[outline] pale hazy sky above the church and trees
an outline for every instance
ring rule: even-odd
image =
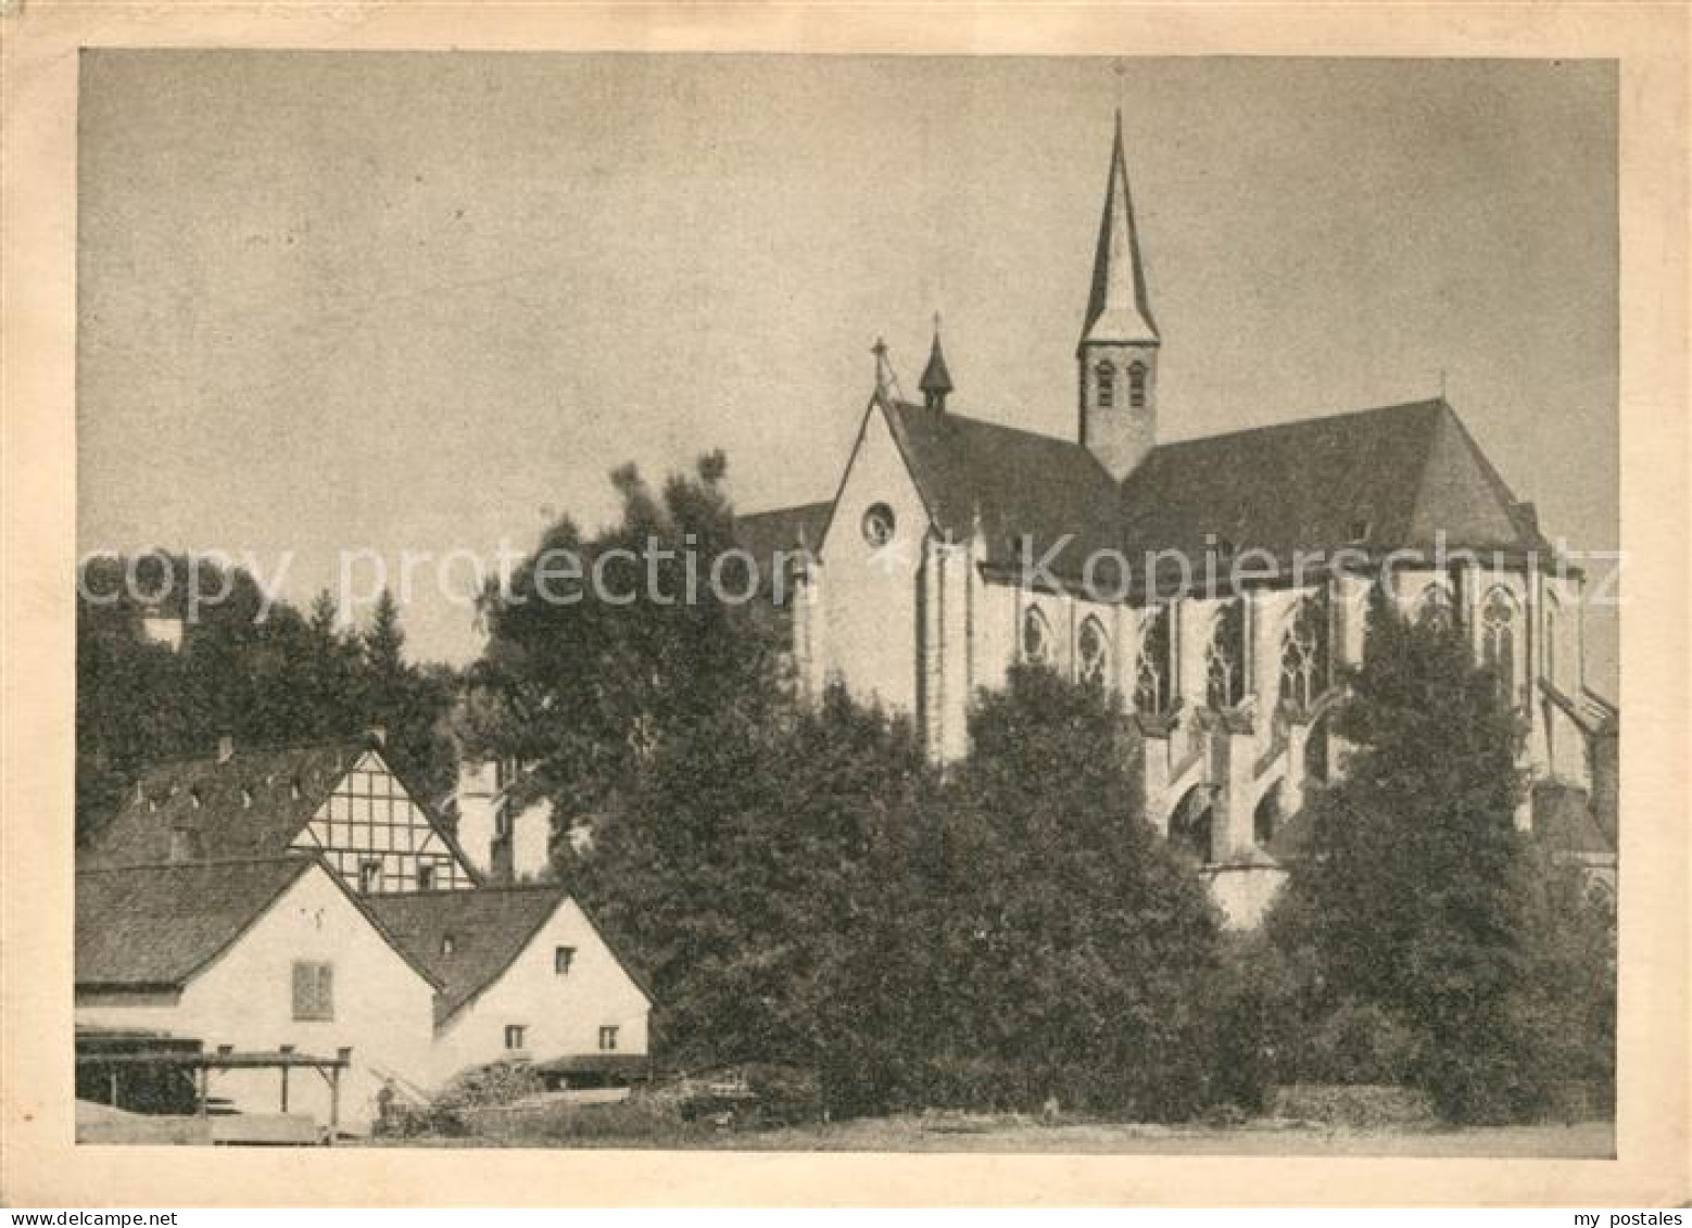
[[[954,411],[1071,435],[1118,107],[1162,438],[1443,387],[1618,546],[1612,63],[85,51],[81,548],[301,604],[413,551],[409,650],[467,661],[469,553],[629,460],[829,497],[936,311]]]

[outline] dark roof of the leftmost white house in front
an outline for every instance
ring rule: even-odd
[[[76,984],[186,984],[313,864],[289,856],[80,871]]]

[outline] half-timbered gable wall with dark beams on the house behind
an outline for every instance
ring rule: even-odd
[[[320,852],[362,895],[475,886],[459,849],[374,749],[335,781],[293,847]]]

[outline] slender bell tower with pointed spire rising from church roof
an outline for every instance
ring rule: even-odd
[[[1093,289],[1076,347],[1079,438],[1118,482],[1157,445],[1157,347],[1118,110]]]

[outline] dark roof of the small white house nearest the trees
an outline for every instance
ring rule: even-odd
[[[435,1022],[442,1023],[504,976],[569,898],[562,886],[486,886],[475,891],[376,895],[365,903],[394,940],[440,983]],[[594,927],[592,918],[587,924]],[[597,927],[594,932],[599,932]],[[445,949],[448,937],[450,951]],[[611,946],[606,944],[606,949],[611,951]],[[618,959],[618,954],[613,951],[611,957]],[[640,978],[621,959],[618,962],[650,1000],[651,993]]]

